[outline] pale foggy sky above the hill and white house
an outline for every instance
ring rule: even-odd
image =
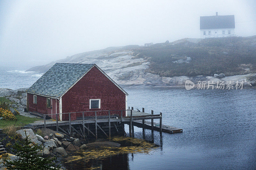
[[[40,65],[130,44],[200,38],[200,16],[235,15],[256,35],[256,1],[0,1],[0,65]],[[252,21],[252,22],[244,22]]]

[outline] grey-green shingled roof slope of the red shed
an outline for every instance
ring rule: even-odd
[[[56,63],[27,92],[59,98],[94,64]]]

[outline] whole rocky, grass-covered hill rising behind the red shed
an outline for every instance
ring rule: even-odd
[[[245,80],[254,84],[256,36],[181,39],[149,47],[129,45],[84,52],[36,66],[27,71],[46,72],[55,63],[95,63],[120,85],[181,86],[187,79]],[[240,75],[240,76],[239,76]],[[250,81],[248,81],[250,78]]]

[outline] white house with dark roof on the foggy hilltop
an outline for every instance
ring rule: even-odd
[[[200,17],[200,38],[228,37],[235,35],[235,16],[218,15]]]

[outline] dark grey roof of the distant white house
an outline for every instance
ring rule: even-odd
[[[224,29],[235,28],[234,15],[218,15],[200,17],[201,29]]]

